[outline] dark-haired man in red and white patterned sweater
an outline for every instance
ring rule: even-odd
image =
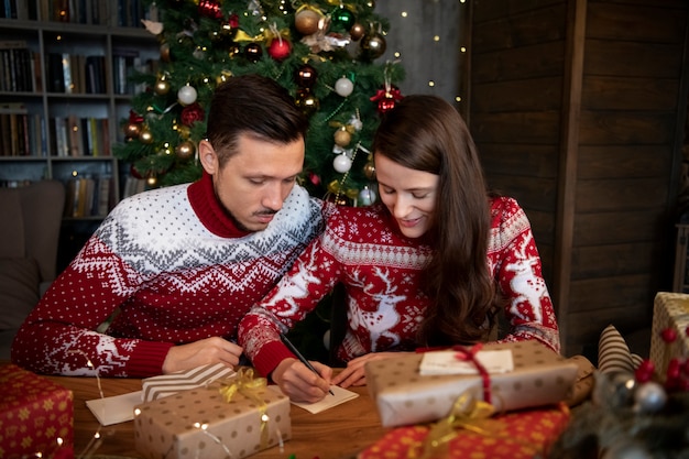
[[[12,361],[130,378],[237,365],[239,320],[321,230],[324,204],[295,185],[307,127],[269,78],[219,86],[203,178],[121,201],[26,318]]]

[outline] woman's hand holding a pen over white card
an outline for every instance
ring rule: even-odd
[[[297,359],[285,359],[273,370],[272,379],[293,402],[316,403],[328,395],[332,369],[310,362],[320,376]]]

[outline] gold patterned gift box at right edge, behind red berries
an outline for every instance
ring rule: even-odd
[[[653,305],[653,325],[650,330],[650,360],[656,365],[660,379],[665,379],[670,359],[689,357],[689,295],[683,293],[659,292]],[[665,342],[660,332],[674,328],[677,339]]]

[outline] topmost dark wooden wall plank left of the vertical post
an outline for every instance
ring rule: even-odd
[[[561,41],[565,40],[566,25],[567,6],[558,3],[477,23],[472,44],[485,52]]]

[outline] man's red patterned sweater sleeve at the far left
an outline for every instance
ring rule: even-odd
[[[144,378],[162,372],[172,343],[96,331],[141,278],[98,237],[114,225],[112,218],[103,221],[29,315],[12,346],[14,363],[44,374]],[[121,280],[119,285],[106,281],[113,278]]]

